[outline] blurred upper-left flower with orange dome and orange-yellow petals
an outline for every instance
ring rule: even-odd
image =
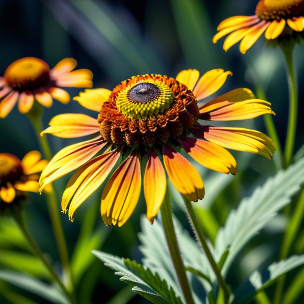
[[[59,61],[50,70],[48,64],[35,57],[24,57],[12,62],[0,77],[0,118],[5,118],[16,102],[21,113],[27,113],[34,99],[44,107],[51,107],[53,98],[66,104],[69,94],[59,87],[91,88],[92,72],[87,69],[72,71],[77,65],[73,58]]]

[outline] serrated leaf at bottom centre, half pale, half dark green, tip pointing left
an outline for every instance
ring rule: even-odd
[[[152,303],[182,304],[173,289],[169,289],[167,283],[161,280],[157,273],[152,274],[150,269],[144,268],[136,261],[124,260],[96,250],[93,251],[93,254],[103,261],[106,266],[115,270],[115,274],[121,276],[121,281],[134,286],[133,291]]]

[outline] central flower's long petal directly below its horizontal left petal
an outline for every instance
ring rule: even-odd
[[[50,182],[77,169],[106,146],[100,136],[74,144],[59,151],[44,168],[40,176],[40,191]]]

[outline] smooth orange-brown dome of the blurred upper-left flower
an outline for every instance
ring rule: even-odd
[[[4,81],[17,90],[33,89],[49,80],[50,68],[46,62],[35,57],[24,57],[12,62],[5,70]]]

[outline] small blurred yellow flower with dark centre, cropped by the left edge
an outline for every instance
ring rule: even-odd
[[[24,192],[39,192],[38,172],[47,160],[38,151],[28,152],[22,160],[10,153],[0,153],[0,202],[11,203]]]

